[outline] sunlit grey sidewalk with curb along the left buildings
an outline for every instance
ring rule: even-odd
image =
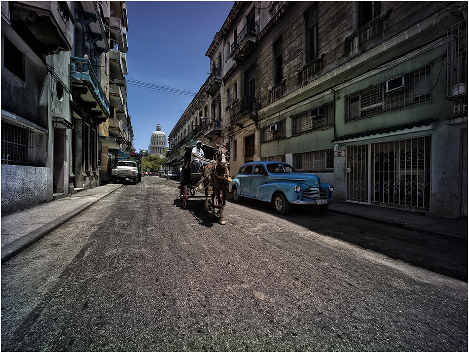
[[[80,191],[75,195],[2,217],[2,263],[122,185],[107,184]]]

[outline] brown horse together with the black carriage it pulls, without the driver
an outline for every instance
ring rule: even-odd
[[[205,209],[208,211],[208,198],[210,197],[213,213],[215,207],[220,208],[221,223],[225,224],[223,206],[225,205],[228,182],[231,180],[228,175],[228,150],[225,146],[213,148],[202,145],[204,163],[200,163],[199,170],[191,170],[191,155],[194,147],[186,146],[184,168],[181,170],[181,181],[179,182],[179,199],[183,201],[183,207],[186,208],[189,198],[205,197]],[[206,163],[208,164],[204,167],[203,164]],[[204,189],[205,195],[196,195],[197,188]]]

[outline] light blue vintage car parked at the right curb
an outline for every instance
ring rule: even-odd
[[[285,215],[291,204],[312,206],[325,212],[334,187],[321,183],[313,173],[297,173],[290,164],[272,161],[245,163],[228,185],[234,202],[241,197],[272,202],[275,212]]]

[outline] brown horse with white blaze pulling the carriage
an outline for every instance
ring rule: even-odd
[[[223,208],[226,205],[228,184],[231,181],[229,154],[226,146],[217,145],[217,147],[218,149],[215,151],[215,161],[204,167],[205,210],[209,210],[208,189],[211,187],[213,200],[212,213],[215,214],[215,204],[218,203],[218,207],[220,208],[220,224],[226,224],[223,218]]]

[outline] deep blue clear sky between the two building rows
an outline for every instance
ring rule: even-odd
[[[168,137],[208,78],[210,59],[205,53],[234,2],[126,1],[126,4],[127,109],[134,134],[133,147],[139,152],[148,150],[157,124]],[[179,91],[183,94],[177,95]]]

